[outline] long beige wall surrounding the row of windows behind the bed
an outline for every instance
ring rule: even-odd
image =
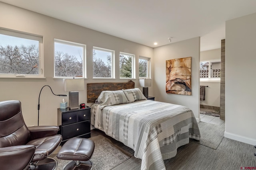
[[[119,62],[115,63],[116,79],[92,79],[92,47],[101,47],[115,51],[115,60],[119,61],[119,52],[150,57],[153,63],[153,49],[138,43],[100,33],[85,27],[80,27],[65,21],[37,14],[22,8],[17,8],[0,2],[0,27],[42,35],[44,37],[44,79],[0,78],[0,101],[20,100],[22,114],[28,126],[37,125],[37,105],[40,89],[44,85],[51,86],[55,94],[67,94],[63,89],[63,80],[54,76],[54,38],[86,45],[86,83],[93,82],[128,82],[129,79],[119,78]],[[136,64],[135,86],[138,83],[138,64]],[[154,77],[154,74],[151,75]],[[52,95],[45,87],[40,96],[40,125],[57,125],[57,108],[63,97]],[[150,96],[154,96],[154,85],[149,88]],[[142,90],[142,88],[141,88]],[[79,92],[79,102],[86,103],[86,86]],[[68,97],[64,97],[68,101]],[[90,106],[91,104],[89,104]]]

